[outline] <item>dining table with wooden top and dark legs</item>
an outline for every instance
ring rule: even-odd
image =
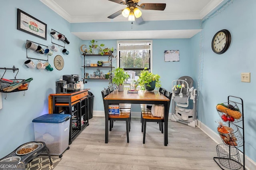
[[[170,99],[158,91],[138,90],[138,93],[128,93],[128,90],[112,91],[104,97],[105,111],[105,143],[108,143],[108,105],[130,103],[130,104],[160,104],[164,105],[164,146],[168,144],[168,102]]]

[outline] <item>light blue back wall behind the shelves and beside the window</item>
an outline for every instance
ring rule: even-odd
[[[98,44],[105,44],[104,47],[116,48],[117,40],[97,40]],[[90,41],[83,41],[87,47],[90,45]],[[160,81],[162,87],[171,91],[172,80],[178,79],[181,76],[190,76],[190,39],[155,39],[152,42],[153,51],[153,68],[154,74],[160,75]],[[164,62],[164,51],[170,49],[180,50],[180,61],[178,62]],[[86,59],[91,60],[91,63],[102,59],[107,61],[107,58],[102,56],[99,57],[87,57]],[[116,67],[116,59],[113,59],[113,66]],[[90,69],[88,72],[92,73]],[[104,70],[102,70],[104,72]],[[107,71],[105,69],[105,71]],[[87,72],[87,71],[86,71]],[[106,73],[106,72],[104,72]],[[100,91],[108,87],[108,81],[103,80],[87,80],[88,83],[85,87],[90,88],[90,91],[94,94],[94,111],[103,111],[103,102]],[[140,107],[134,105],[132,111],[140,112]]]

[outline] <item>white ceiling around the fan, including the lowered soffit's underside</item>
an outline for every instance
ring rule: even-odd
[[[114,19],[107,18],[111,14],[126,8],[109,0],[40,0],[70,23],[81,22],[121,22],[128,21],[122,15]],[[124,0],[125,1],[125,0]],[[195,20],[202,19],[224,0],[140,0],[142,3],[166,3],[164,11],[141,10],[145,21],[155,20]],[[200,30],[163,30],[132,31],[139,39],[191,38]],[[82,40],[130,39],[127,31],[111,32],[76,32],[72,33]],[[106,34],[106,35],[105,35]],[[168,35],[168,36],[166,36]]]

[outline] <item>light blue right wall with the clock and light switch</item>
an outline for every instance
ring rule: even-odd
[[[255,0],[234,0],[223,8],[224,10],[207,19],[202,24],[202,32],[191,38],[192,75],[200,84],[198,120],[217,133],[216,122],[221,119],[216,111],[216,105],[227,102],[229,95],[242,98],[245,153],[254,161],[256,160],[255,8]],[[214,34],[222,29],[230,31],[232,41],[226,53],[218,55],[212,51],[211,42]],[[240,73],[244,72],[251,73],[251,83],[241,82]],[[241,122],[238,125],[241,125]]]

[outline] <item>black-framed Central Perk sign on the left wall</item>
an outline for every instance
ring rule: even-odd
[[[18,9],[17,29],[44,40],[47,39],[47,25],[20,9]]]

